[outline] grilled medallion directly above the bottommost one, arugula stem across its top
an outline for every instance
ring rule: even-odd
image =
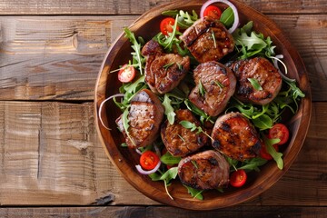
[[[163,123],[161,137],[163,139],[163,144],[170,154],[183,157],[187,154],[196,152],[209,140],[205,134],[196,134],[196,131],[191,132],[190,129],[186,129],[179,124],[181,121],[185,120],[197,126],[200,125],[200,122],[191,111],[177,110],[175,114],[174,124],[169,124],[168,120]]]

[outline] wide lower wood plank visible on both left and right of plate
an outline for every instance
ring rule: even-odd
[[[296,161],[271,189],[244,205],[327,206],[327,103]],[[110,163],[94,127],[94,105],[0,102],[0,205],[158,205]]]

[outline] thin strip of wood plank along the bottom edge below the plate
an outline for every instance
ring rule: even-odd
[[[57,207],[57,208],[0,208],[1,217],[178,217],[178,218],[244,218],[244,217],[302,217],[324,218],[327,207],[237,206],[215,211],[187,211],[172,207],[107,206],[107,207]]]

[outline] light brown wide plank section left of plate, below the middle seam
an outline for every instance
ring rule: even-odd
[[[0,205],[152,203],[104,154],[92,103],[0,102],[0,112]]]

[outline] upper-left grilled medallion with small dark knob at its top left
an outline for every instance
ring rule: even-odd
[[[155,94],[172,91],[190,69],[189,56],[165,54],[154,40],[144,45],[142,54],[146,57],[145,82]]]

